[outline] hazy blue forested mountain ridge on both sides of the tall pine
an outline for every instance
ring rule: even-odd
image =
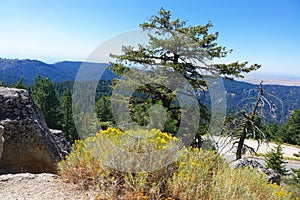
[[[31,85],[37,75],[49,77],[53,82],[74,81],[76,74],[84,62],[63,61],[47,64],[38,60],[18,60],[0,58],[0,81],[12,85],[20,77],[24,83]],[[95,67],[104,68],[107,63],[88,63]],[[102,75],[102,79],[112,80],[117,76],[109,69]],[[227,111],[236,113],[242,109],[249,110],[257,97],[257,84],[224,79],[226,89]],[[282,85],[263,85],[266,101],[262,115],[269,122],[283,123],[289,114],[300,108],[300,87]],[[209,96],[204,101],[209,105]]]

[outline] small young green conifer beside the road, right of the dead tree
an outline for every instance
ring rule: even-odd
[[[277,145],[265,155],[265,162],[266,168],[273,169],[274,171],[283,176],[287,174],[287,170],[284,166],[286,162],[284,162],[283,160],[281,145]]]

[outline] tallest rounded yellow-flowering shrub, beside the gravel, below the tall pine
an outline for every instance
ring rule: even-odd
[[[143,139],[132,139],[139,137]],[[132,194],[141,194],[144,187],[152,188],[152,193],[159,193],[161,187],[166,184],[165,180],[161,180],[162,176],[169,177],[173,171],[171,168],[176,165],[171,164],[155,172],[120,172],[112,165],[108,165],[108,162],[115,165],[122,164],[124,163],[122,160],[128,157],[114,152],[112,146],[115,145],[128,152],[143,153],[164,150],[171,145],[175,146],[176,142],[178,138],[157,129],[122,132],[116,128],[108,128],[98,132],[94,137],[86,138],[84,142],[76,140],[72,146],[73,151],[66,157],[66,160],[59,163],[59,173],[65,181],[76,183],[81,188],[97,186],[101,190],[110,191],[112,188],[117,191],[127,188],[128,190],[124,190],[124,195],[126,194],[127,197]],[[126,162],[130,161],[126,160]],[[133,162],[137,163],[134,160]],[[139,164],[143,163],[139,162]]]

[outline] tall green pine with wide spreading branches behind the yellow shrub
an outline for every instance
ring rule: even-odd
[[[243,77],[242,73],[248,73],[260,68],[260,65],[253,64],[248,66],[248,62],[233,62],[230,64],[208,64],[202,65],[206,60],[213,60],[214,58],[226,57],[232,50],[227,50],[223,46],[219,46],[217,43],[218,32],[210,33],[212,23],[208,22],[204,26],[190,26],[186,21],[180,19],[171,19],[171,12],[161,8],[158,15],[152,16],[149,22],[140,24],[143,31],[149,33],[148,44],[139,44],[137,48],[133,46],[123,46],[122,55],[111,55],[115,58],[115,62],[112,63],[112,70],[118,75],[123,75],[129,71],[129,67],[137,66],[150,66],[143,75],[149,75],[151,73],[159,76],[160,71],[170,74],[169,79],[163,74],[160,84],[143,84],[137,89],[137,95],[130,99],[130,111],[132,118],[138,116],[136,122],[145,125],[150,123],[147,121],[149,116],[143,113],[147,113],[147,107],[149,104],[159,107],[161,104],[164,109],[167,109],[168,119],[165,123],[164,131],[169,133],[176,133],[177,128],[180,125],[180,119],[183,113],[187,113],[188,109],[193,109],[193,105],[186,110],[178,104],[175,93],[163,85],[167,81],[174,84],[178,77],[172,77],[171,74],[175,70],[180,73],[189,84],[197,89],[201,90],[206,86],[205,76],[207,74],[213,74],[217,76],[225,77]],[[152,33],[155,34],[153,35]],[[163,36],[163,37],[162,37]],[[204,52],[205,49],[205,52]],[[158,67],[159,66],[159,67]],[[136,72],[130,68],[132,77]],[[204,73],[202,73],[204,72]],[[129,78],[128,78],[129,80]],[[143,81],[143,80],[142,80]],[[159,82],[159,81],[158,81]],[[163,83],[163,84],[162,84]],[[130,80],[128,81],[130,84]],[[177,87],[177,86],[176,86]],[[178,86],[177,88],[179,88]],[[187,96],[194,95],[187,92]],[[208,110],[200,102],[199,113],[201,113],[201,125],[205,129],[207,124],[206,118]],[[152,106],[152,107],[153,107]],[[136,112],[139,112],[136,114]],[[139,119],[141,117],[142,119]],[[125,119],[126,120],[126,119]],[[191,119],[192,122],[193,119]],[[177,127],[177,128],[176,128]],[[194,127],[190,126],[190,130],[186,132],[197,132]],[[198,132],[199,134],[199,132]],[[198,135],[199,137],[199,135]],[[200,140],[197,140],[200,141]],[[199,144],[196,144],[198,146]]]

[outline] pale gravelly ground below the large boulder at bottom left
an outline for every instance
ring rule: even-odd
[[[0,200],[94,199],[91,191],[82,191],[72,183],[62,182],[54,174],[0,175]]]

